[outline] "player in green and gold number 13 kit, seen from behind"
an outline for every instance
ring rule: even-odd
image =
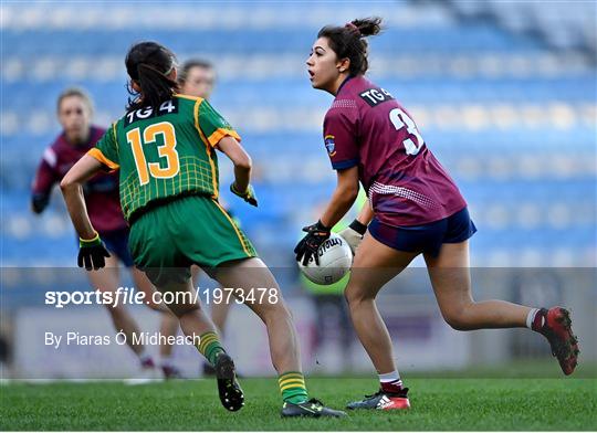
[[[191,264],[222,287],[234,287],[234,295],[265,324],[272,363],[280,374],[282,416],[345,415],[310,400],[296,330],[277,283],[218,202],[216,150],[234,165],[230,190],[258,205],[250,184],[251,158],[240,146],[239,135],[207,101],[177,94],[176,57],[170,50],[142,42],[130,47],[125,64],[133,94],[126,114],[61,182],[81,239],[80,257],[100,268],[106,254],[85,210],[81,186],[103,169],[119,170],[121,204],[130,223],[135,264],[161,293],[177,298],[168,307],[178,316],[185,335],[214,367],[222,405],[238,411],[244,405],[244,394],[232,358],[201,303],[195,300]],[[251,299],[255,287],[266,287],[269,296]],[[190,296],[182,298],[182,294]]]

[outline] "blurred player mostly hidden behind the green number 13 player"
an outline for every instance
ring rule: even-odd
[[[211,92],[216,85],[216,71],[213,65],[202,59],[191,59],[182,64],[179,68],[178,85],[182,95],[201,97],[209,99]],[[220,204],[226,209],[229,215],[232,216],[229,207],[220,198]],[[232,216],[233,218],[233,216]],[[238,220],[234,219],[238,223]],[[192,266],[192,277],[197,282],[199,275],[199,267]],[[218,329],[218,332],[222,338],[226,336],[226,321],[228,313],[230,311],[230,303],[212,303],[211,304],[211,320]],[[209,362],[203,363],[203,374],[214,374],[213,368]]]

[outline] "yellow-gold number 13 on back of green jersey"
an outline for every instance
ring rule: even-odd
[[[160,158],[166,158],[165,167],[160,167],[160,162],[147,163],[143,151],[143,146],[155,142],[158,135],[164,138],[164,145],[158,146],[158,155]],[[180,162],[176,150],[176,131],[169,122],[149,125],[143,131],[143,140],[140,128],[130,129],[126,133],[126,140],[133,148],[133,157],[142,186],[149,182],[149,175],[156,179],[169,179],[178,175]]]

